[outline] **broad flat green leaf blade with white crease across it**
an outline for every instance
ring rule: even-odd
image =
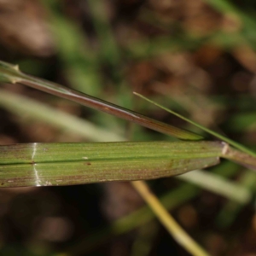
[[[28,143],[0,146],[0,186],[169,177],[218,164],[216,142]]]

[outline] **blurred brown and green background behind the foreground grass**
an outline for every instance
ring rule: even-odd
[[[137,91],[256,149],[255,14],[249,0],[0,0],[0,59],[203,134]],[[0,144],[173,140],[20,84],[0,89]],[[210,172],[248,196],[174,177],[149,185],[211,255],[256,255],[256,175],[224,160]],[[189,255],[130,183],[0,189],[1,255],[171,253]]]

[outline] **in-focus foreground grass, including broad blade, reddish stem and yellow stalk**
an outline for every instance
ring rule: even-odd
[[[3,82],[26,84],[56,96],[63,96],[74,102],[83,103],[90,108],[112,113],[120,118],[128,119],[156,131],[162,131],[174,137],[182,138],[183,140],[196,141],[202,138],[195,133],[184,131],[172,125],[165,125],[154,119],[148,119],[139,113],[103,102],[75,90],[69,90],[60,84],[32,78],[24,73],[20,73],[17,66],[4,62],[0,64],[0,77]],[[180,115],[178,117],[183,118]],[[189,119],[185,120],[189,121]],[[196,125],[194,122],[192,124]],[[198,126],[202,127],[201,125]],[[207,141],[195,143],[153,142],[149,144],[32,143],[9,145],[2,146],[0,151],[1,186],[50,186],[151,179],[177,175],[216,165],[218,164],[219,157],[236,160],[243,165],[256,168],[256,159],[250,150],[223,136],[219,136],[215,132],[208,129],[205,130],[231,143],[245,153],[230,148],[224,142],[211,143]],[[133,185],[177,242],[194,255],[208,255],[204,249],[183,231],[174,218],[168,214],[165,207],[150,192],[145,183],[133,182]]]

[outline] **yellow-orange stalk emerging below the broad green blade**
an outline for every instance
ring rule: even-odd
[[[196,256],[209,255],[200,245],[198,245],[183,229],[177,224],[172,215],[166,211],[166,208],[162,206],[158,198],[148,189],[145,183],[136,181],[132,182],[132,185],[143,197],[143,200],[148,203],[154,214],[159,218],[160,222],[166,227],[169,233],[174,239],[189,253]]]

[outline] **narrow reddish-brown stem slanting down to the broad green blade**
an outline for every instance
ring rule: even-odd
[[[201,140],[203,138],[194,132],[186,131],[172,125],[167,125],[154,119],[149,119],[143,114],[128,110],[126,108],[121,108],[112,103],[102,101],[96,97],[69,89],[61,84],[50,83],[49,81],[26,75],[25,73],[21,73],[17,66],[12,66],[3,61],[0,61],[0,82],[1,81],[13,84],[26,84],[32,88],[43,90],[55,96],[61,96],[62,98],[66,98],[73,102],[78,102],[86,107],[112,114],[121,119],[126,119],[154,131],[160,131],[183,140]]]

